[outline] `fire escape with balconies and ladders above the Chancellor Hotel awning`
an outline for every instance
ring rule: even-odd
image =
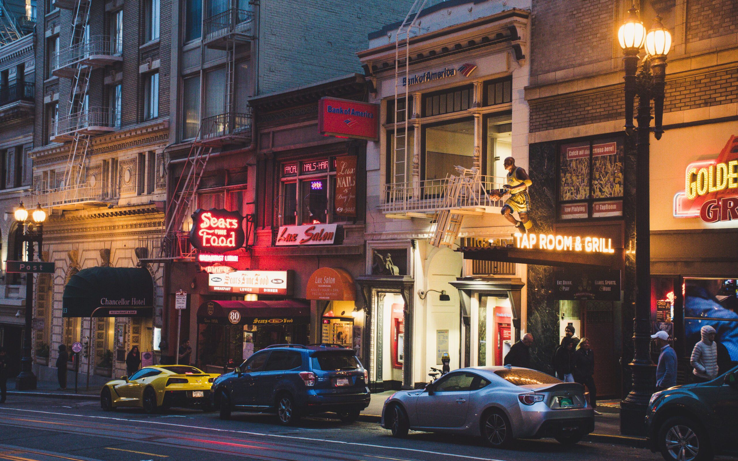
[[[90,35],[91,0],[55,0],[55,5],[72,11],[72,35],[68,47],[52,56],[52,74],[69,78],[71,90],[66,102],[66,114],[52,121],[52,142],[69,143],[61,183],[41,184],[34,192],[34,201],[42,207],[61,212],[63,209],[82,209],[107,205],[103,197],[102,181],[86,181],[86,166],[92,136],[116,131],[120,127],[120,112],[106,107],[89,105],[90,74],[117,61],[122,45],[116,38]],[[63,108],[63,105],[61,106]],[[61,111],[60,111],[61,112]]]

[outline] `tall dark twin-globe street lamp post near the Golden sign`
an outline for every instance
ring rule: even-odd
[[[666,55],[672,45],[672,36],[655,18],[654,26],[646,32],[638,19],[637,10],[631,8],[629,16],[618,31],[618,41],[623,49],[625,64],[625,129],[633,135],[633,105],[638,96],[638,128],[635,128],[636,178],[635,195],[635,319],[633,319],[633,359],[630,393],[620,403],[620,431],[623,434],[643,434],[649,399],[655,390],[655,367],[650,355],[651,335],[651,223],[649,207],[649,136],[651,119],[653,133],[661,139],[663,129],[663,92]],[[641,60],[638,53],[646,48]],[[654,115],[651,115],[651,100]]]

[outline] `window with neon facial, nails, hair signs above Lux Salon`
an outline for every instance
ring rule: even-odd
[[[345,222],[353,217],[336,209],[336,158],[281,165],[280,223],[318,224]]]

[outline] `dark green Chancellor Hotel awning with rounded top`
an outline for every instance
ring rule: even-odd
[[[91,267],[69,278],[63,317],[151,317],[154,280],[145,268]]]

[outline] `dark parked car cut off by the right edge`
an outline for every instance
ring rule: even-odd
[[[708,461],[738,440],[738,368],[712,381],[656,392],[648,413],[651,451],[666,461]]]

